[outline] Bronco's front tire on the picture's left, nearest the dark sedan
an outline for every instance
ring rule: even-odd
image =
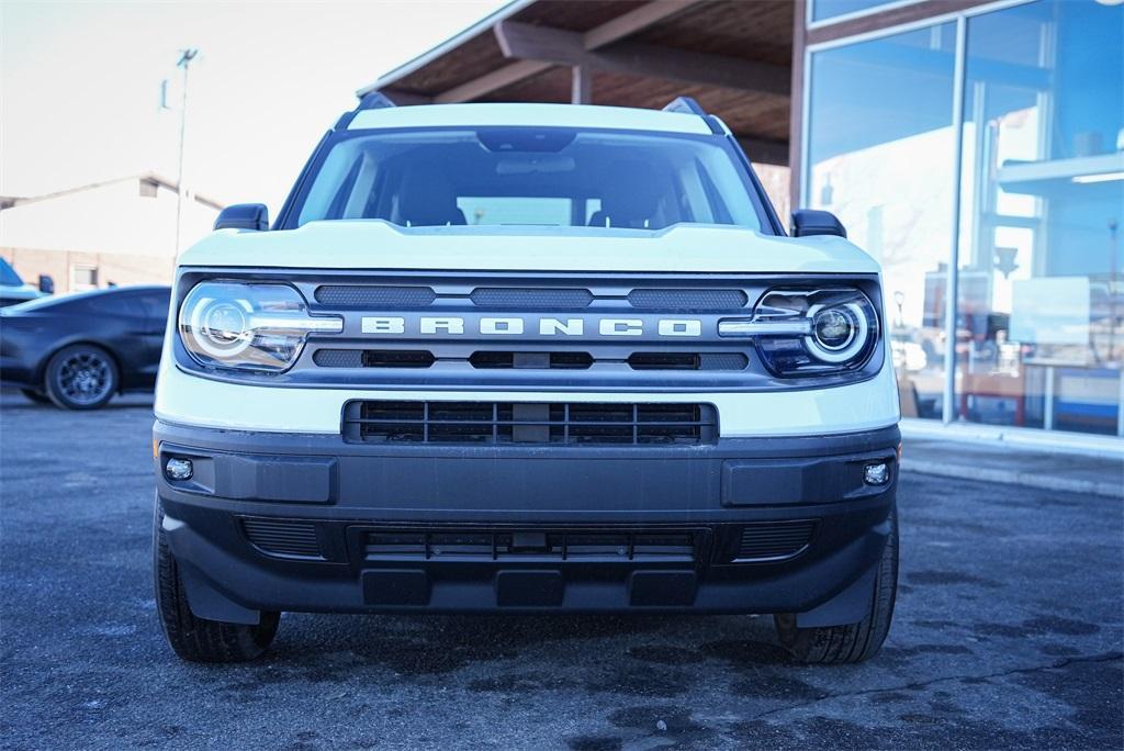
[[[175,557],[167,546],[164,513],[153,514],[153,578],[156,609],[172,650],[192,662],[245,662],[261,657],[278,632],[281,614],[266,610],[255,626],[196,617],[188,606]]]

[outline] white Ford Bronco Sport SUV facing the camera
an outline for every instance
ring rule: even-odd
[[[277,223],[183,253],[156,393],[156,592],[189,660],[282,610],[776,614],[886,637],[898,400],[878,264],[786,233],[723,123],[393,107]]]

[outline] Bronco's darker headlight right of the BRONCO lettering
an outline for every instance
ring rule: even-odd
[[[854,288],[772,289],[753,318],[725,318],[722,336],[753,337],[776,376],[823,376],[861,368],[878,344],[878,315]]]

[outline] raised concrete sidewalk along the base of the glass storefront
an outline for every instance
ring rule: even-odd
[[[1124,499],[1124,459],[1031,450],[1001,442],[903,440],[901,470]]]

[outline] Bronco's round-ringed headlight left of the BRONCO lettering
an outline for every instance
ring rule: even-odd
[[[209,368],[277,373],[297,361],[309,333],[338,334],[338,316],[308,315],[288,284],[201,282],[180,306],[180,340]]]

